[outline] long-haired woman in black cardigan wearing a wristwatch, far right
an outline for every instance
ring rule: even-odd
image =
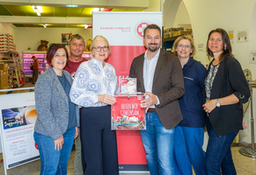
[[[208,67],[203,109],[207,112],[207,174],[236,175],[230,144],[243,130],[243,103],[250,97],[242,67],[232,54],[230,38],[223,29],[208,34]]]

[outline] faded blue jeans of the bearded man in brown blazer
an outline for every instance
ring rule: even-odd
[[[146,130],[141,130],[141,137],[150,174],[174,174],[174,129],[166,130],[156,112],[147,113]]]

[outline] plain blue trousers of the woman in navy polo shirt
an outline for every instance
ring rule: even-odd
[[[206,174],[203,137],[203,128],[175,128],[174,155],[180,175],[192,175],[192,165],[196,175]]]

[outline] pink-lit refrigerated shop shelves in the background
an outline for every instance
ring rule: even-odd
[[[26,51],[23,52],[22,56],[24,60],[24,71],[27,77],[31,77],[33,73],[33,70],[30,69],[30,65],[33,64],[33,56],[39,60],[39,73],[44,73],[48,69],[46,51]],[[84,52],[82,57],[84,59],[91,59],[91,52]]]

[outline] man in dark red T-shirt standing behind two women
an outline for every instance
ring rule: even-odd
[[[73,80],[75,79],[75,74],[77,72],[78,66],[82,62],[87,60],[82,57],[84,50],[85,50],[84,38],[79,34],[72,35],[69,39],[70,56],[64,70],[68,71],[71,74],[71,77]],[[76,155],[75,155],[75,161],[74,161],[74,172],[75,172],[75,175],[82,175],[84,174],[84,172],[83,172],[82,158],[81,158],[80,133],[78,137],[75,139],[75,145],[76,145]]]

